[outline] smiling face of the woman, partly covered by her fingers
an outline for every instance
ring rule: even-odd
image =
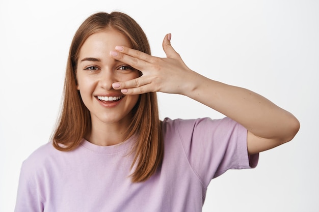
[[[76,78],[85,106],[91,113],[92,127],[115,124],[127,127],[130,111],[139,95],[123,95],[112,83],[135,79],[139,71],[115,60],[110,51],[115,46],[131,47],[129,40],[115,29],[91,35],[79,50]]]

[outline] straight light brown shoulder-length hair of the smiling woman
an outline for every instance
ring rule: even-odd
[[[90,111],[84,105],[76,89],[75,71],[78,53],[85,40],[94,33],[113,28],[125,35],[132,48],[151,54],[150,46],[140,25],[121,12],[99,12],[88,17],[77,29],[69,51],[64,82],[63,106],[57,127],[52,135],[53,145],[62,151],[76,148],[83,137],[91,131]],[[134,146],[135,158],[131,168],[133,182],[147,180],[161,164],[164,155],[161,121],[158,116],[156,93],[140,95],[132,109],[131,124],[126,138],[137,135]],[[61,145],[62,144],[62,145]]]

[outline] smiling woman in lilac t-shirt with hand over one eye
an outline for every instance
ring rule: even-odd
[[[23,162],[15,211],[201,211],[209,181],[255,167],[298,120],[250,90],[190,70],[163,41],[150,55],[129,16],[96,13],[69,52],[52,141]],[[158,117],[155,92],[188,96],[223,119]]]

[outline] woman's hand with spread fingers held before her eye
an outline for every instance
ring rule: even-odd
[[[122,93],[126,95],[148,92],[185,95],[188,90],[193,89],[195,85],[190,82],[197,73],[184,64],[180,55],[171,46],[170,40],[171,34],[167,34],[163,41],[163,49],[167,58],[151,56],[124,46],[116,46],[116,51],[110,52],[111,56],[141,71],[142,76],[125,82],[115,82],[113,88],[121,89]]]

